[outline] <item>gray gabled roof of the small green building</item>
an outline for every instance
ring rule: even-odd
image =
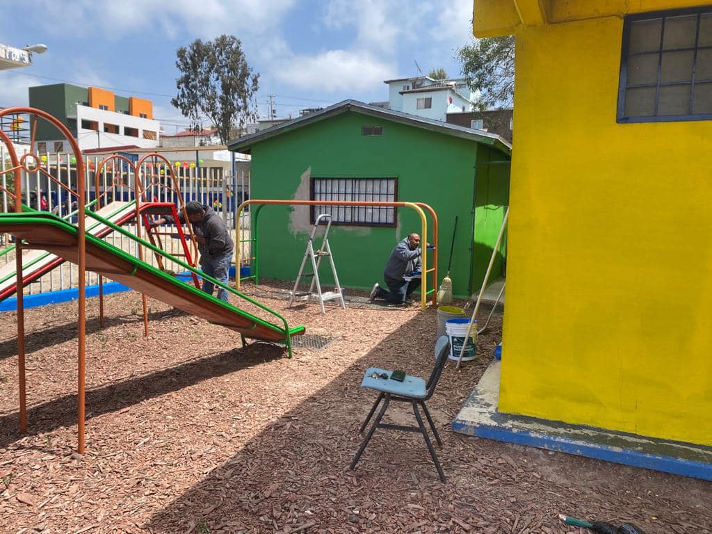
[[[496,134],[449,124],[448,122],[442,122],[441,120],[426,119],[425,117],[410,115],[409,113],[400,111],[377,108],[376,106],[368,105],[359,102],[358,100],[344,100],[343,102],[330,105],[328,108],[324,108],[321,111],[310,113],[309,115],[303,115],[303,117],[297,117],[287,122],[283,122],[281,125],[262,130],[261,132],[255,132],[251,135],[246,135],[245,137],[238,137],[237,139],[229,141],[227,147],[233,152],[248,154],[252,145],[255,145],[258,142],[271,139],[271,137],[276,137],[277,135],[281,135],[286,132],[292,132],[300,127],[311,124],[312,122],[325,120],[329,117],[341,115],[342,113],[350,111],[355,111],[362,113],[363,115],[370,115],[380,119],[392,120],[393,122],[400,122],[401,124],[420,127],[424,130],[431,130],[432,132],[452,135],[453,137],[460,137],[461,139],[481,142],[484,145],[491,145],[506,155],[510,155],[512,152],[512,145]]]

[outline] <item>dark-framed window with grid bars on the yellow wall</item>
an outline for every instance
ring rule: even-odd
[[[712,7],[626,17],[617,119],[712,119]]]

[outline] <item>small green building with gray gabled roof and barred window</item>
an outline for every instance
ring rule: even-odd
[[[458,217],[454,294],[465,297],[479,289],[508,204],[511,146],[501,137],[345,100],[228,147],[252,157],[253,199],[429,204],[439,219],[439,281]],[[374,282],[383,283],[394,245],[420,231],[419,216],[408,208],[325,211],[333,216],[329,243],[345,287],[370,289]],[[261,210],[260,278],[296,278],[315,214],[318,209],[310,206]],[[505,260],[501,247],[491,279],[503,275]],[[331,282],[327,270],[325,285]]]

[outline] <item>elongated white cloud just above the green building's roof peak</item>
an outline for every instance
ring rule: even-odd
[[[276,78],[300,90],[354,92],[387,79],[394,66],[367,51],[330,50],[316,56],[293,56],[275,72]]]

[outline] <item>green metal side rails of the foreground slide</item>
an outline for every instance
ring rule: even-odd
[[[266,320],[263,320],[261,318],[256,317],[255,315],[252,315],[251,313],[248,313],[244,310],[241,310],[240,308],[236,308],[235,306],[225,303],[222,300],[219,300],[219,298],[214,297],[213,295],[208,295],[207,293],[204,293],[203,291],[194,288],[193,286],[190,286],[187,283],[184,283],[180,280],[177,280],[176,278],[173,278],[172,276],[169,276],[167,273],[164,273],[163,271],[159,271],[157,268],[151,266],[148,263],[145,263],[143,261],[140,261],[140,259],[136,258],[135,256],[131,256],[130,254],[126,253],[125,251],[122,251],[120,248],[116,248],[115,246],[112,246],[105,241],[96,238],[95,236],[92,236],[90,234],[87,234],[85,238],[90,241],[90,243],[103,248],[107,253],[110,253],[112,256],[117,256],[119,258],[122,258],[125,261],[128,261],[132,263],[134,266],[134,271],[132,272],[135,273],[139,268],[142,268],[143,270],[152,273],[154,276],[158,276],[159,278],[163,278],[166,281],[169,281],[172,283],[174,286],[177,286],[181,288],[182,290],[188,291],[189,293],[193,293],[195,295],[199,295],[201,298],[204,298],[206,300],[210,300],[213,303],[216,303],[217,305],[220,305],[222,308],[225,308],[225,310],[231,312],[231,313],[236,313],[238,315],[241,315],[242,317],[251,320],[253,323],[262,325],[265,328],[269,328],[271,330],[274,330],[278,333],[281,333],[284,335],[284,340],[281,340],[281,343],[284,343],[287,347],[289,357],[293,357],[292,353],[292,342],[291,342],[291,336],[295,335],[297,333],[303,332],[305,328],[303,326],[298,326],[295,328],[289,328],[287,324],[287,320],[283,318],[282,315],[277,313],[276,311],[272,310],[271,308],[268,308],[267,306],[259,303],[256,300],[253,300],[252,298],[249,298],[247,295],[244,295],[244,293],[241,293],[240,291],[236,290],[235,288],[231,288],[230,286],[221,283],[220,281],[216,280],[215,278],[212,278],[211,276],[206,275],[205,273],[199,271],[198,269],[189,266],[187,263],[184,263],[183,261],[180,261],[178,258],[174,258],[171,256],[169,253],[166,253],[165,251],[162,251],[160,248],[153,246],[147,241],[144,241],[143,239],[138,238],[134,234],[131,234],[129,231],[122,229],[120,226],[117,226],[113,224],[111,221],[108,219],[105,219],[102,216],[99,216],[93,211],[90,211],[88,209],[85,209],[85,214],[90,216],[91,218],[100,221],[100,223],[105,224],[106,226],[110,227],[114,231],[117,231],[118,233],[127,236],[129,239],[132,239],[132,241],[137,242],[138,244],[141,244],[147,248],[149,248],[152,252],[157,253],[164,258],[169,259],[170,261],[173,261],[174,263],[177,263],[179,266],[182,268],[185,268],[187,271],[190,271],[197,276],[200,276],[201,278],[204,278],[207,281],[210,281],[214,285],[224,288],[225,290],[228,290],[230,293],[233,293],[234,295],[239,296],[240,298],[248,301],[249,303],[256,305],[258,308],[261,308],[262,310],[265,310],[268,313],[271,313],[272,315],[275,315],[276,318],[281,320],[281,322],[284,325],[284,328],[280,328],[276,325],[273,325],[272,323],[268,323]],[[63,221],[62,219],[59,219],[57,216],[53,214],[48,214],[48,213],[40,213],[40,212],[35,212],[31,215],[28,214],[16,214],[16,213],[9,213],[9,214],[0,214],[0,219],[19,219],[17,221],[14,221],[16,223],[20,224],[49,224],[51,226],[56,226],[59,229],[62,229],[63,231],[68,232],[69,234],[77,235],[78,230],[76,229],[75,226],[72,224],[69,224],[67,221]]]

